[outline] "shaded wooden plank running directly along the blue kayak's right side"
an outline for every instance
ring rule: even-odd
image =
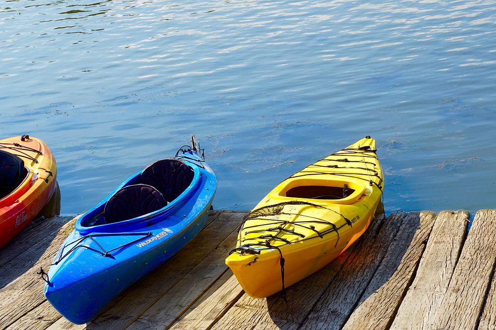
[[[224,211],[164,265],[125,290],[90,322],[92,329],[124,329],[178,283],[241,224],[245,213]],[[160,283],[160,285],[157,285]],[[67,321],[68,322],[68,321]],[[60,325],[60,324],[59,324]],[[70,325],[62,325],[69,328]],[[49,328],[50,329],[50,328]],[[71,328],[69,328],[71,329]],[[77,327],[74,329],[78,329]]]

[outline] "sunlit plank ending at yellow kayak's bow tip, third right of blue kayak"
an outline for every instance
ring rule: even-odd
[[[174,330],[211,329],[245,293],[231,270],[210,287],[171,327]],[[244,329],[242,326],[240,327]]]

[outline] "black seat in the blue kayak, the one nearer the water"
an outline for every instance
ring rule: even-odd
[[[140,182],[155,187],[165,200],[172,202],[189,187],[193,177],[193,169],[184,162],[166,158],[148,165],[141,173]]]

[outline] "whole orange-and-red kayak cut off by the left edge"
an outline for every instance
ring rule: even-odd
[[[55,191],[57,163],[29,136],[0,140],[0,247],[23,230]]]

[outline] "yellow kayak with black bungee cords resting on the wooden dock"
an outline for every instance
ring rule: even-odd
[[[384,187],[367,136],[295,173],[245,217],[226,264],[264,298],[334,260],[369,227]]]

